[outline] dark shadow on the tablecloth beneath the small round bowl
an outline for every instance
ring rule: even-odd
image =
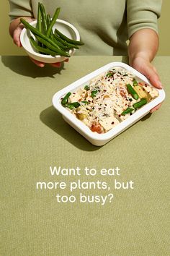
[[[64,63],[60,68],[52,67],[50,64],[45,64],[45,67],[37,67],[28,56],[1,56],[1,61],[5,67],[8,67],[13,72],[24,77],[54,77],[55,74],[61,74],[64,68]]]

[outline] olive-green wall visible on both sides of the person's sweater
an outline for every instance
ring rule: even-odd
[[[170,1],[163,0],[161,18],[158,20],[160,47],[158,55],[170,55],[170,30],[167,25],[169,21]],[[9,2],[0,1],[0,55],[23,55],[24,51],[14,46],[12,38],[9,36]]]

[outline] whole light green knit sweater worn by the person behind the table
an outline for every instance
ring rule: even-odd
[[[158,32],[161,0],[41,1],[50,15],[61,7],[59,18],[73,24],[85,46],[79,55],[127,55],[127,40],[137,30],[149,27]],[[37,17],[38,0],[11,0],[9,16]]]

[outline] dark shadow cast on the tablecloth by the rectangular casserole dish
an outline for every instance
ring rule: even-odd
[[[76,132],[75,129],[63,120],[61,114],[53,106],[46,108],[40,113],[40,120],[50,129],[53,129],[54,132],[58,133],[58,135],[61,135],[64,140],[68,140],[68,142],[80,150],[95,151],[101,148],[91,145],[79,132]]]

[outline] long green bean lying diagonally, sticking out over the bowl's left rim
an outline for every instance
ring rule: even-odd
[[[46,35],[42,34],[39,30],[37,30],[35,27],[32,27],[32,25],[30,25],[26,20],[24,20],[23,18],[20,19],[20,21],[22,22],[22,24],[24,24],[24,26],[29,29],[34,35],[38,35],[40,38],[48,41],[48,43],[50,43],[51,45],[55,46],[56,48],[58,48],[58,51],[61,51],[61,49],[59,48],[59,46],[53,42],[53,40],[51,40],[50,38],[48,38]],[[70,57],[70,55],[66,52],[61,51],[60,54],[62,56],[67,56]]]

